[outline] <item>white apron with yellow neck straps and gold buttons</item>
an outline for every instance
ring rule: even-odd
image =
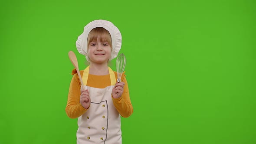
[[[115,73],[108,67],[111,86],[93,88],[87,86],[89,66],[84,70],[82,80],[89,90],[91,105],[78,118],[77,144],[121,144],[121,118],[112,101]],[[81,88],[82,89],[82,88]]]

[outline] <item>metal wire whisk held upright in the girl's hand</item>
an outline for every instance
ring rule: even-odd
[[[125,70],[125,64],[125,55],[121,53],[116,59],[117,82],[121,82],[121,76]]]

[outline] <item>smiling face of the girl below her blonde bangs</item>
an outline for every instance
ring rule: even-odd
[[[95,63],[107,63],[108,59],[111,57],[111,46],[108,42],[96,42],[92,41],[89,43],[88,56],[92,62]]]

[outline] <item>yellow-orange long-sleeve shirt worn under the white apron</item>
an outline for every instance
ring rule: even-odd
[[[80,71],[81,76],[83,75],[83,70]],[[115,73],[115,77],[117,79],[117,72]],[[80,95],[81,95],[81,84],[79,81],[79,76],[74,69],[72,71],[73,78],[70,82],[69,86],[69,94],[68,94],[68,101],[66,105],[66,114],[69,118],[78,118],[79,116],[83,115],[87,109],[83,108],[80,104]],[[128,84],[125,79],[125,75],[122,75],[121,81],[125,82],[124,92],[120,98],[113,98],[112,101],[115,105],[115,108],[119,112],[119,114],[127,118],[133,112],[133,107],[131,105],[131,99],[129,95]],[[89,74],[87,80],[87,86],[94,87],[94,88],[105,88],[110,86],[110,75],[91,75]]]

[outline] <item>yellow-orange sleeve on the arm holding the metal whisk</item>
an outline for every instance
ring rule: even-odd
[[[125,76],[123,76],[121,81],[125,82],[124,92],[120,98],[113,98],[112,96],[112,100],[119,114],[124,118],[128,118],[133,112],[133,107],[131,105],[128,84]]]

